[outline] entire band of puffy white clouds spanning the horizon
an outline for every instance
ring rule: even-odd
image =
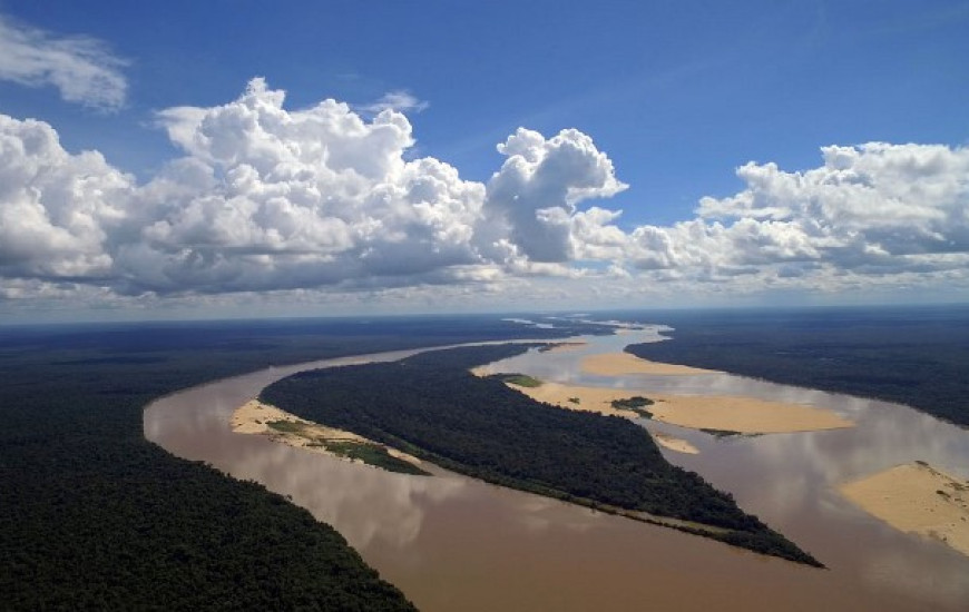
[[[603,299],[642,300],[664,287],[969,284],[967,149],[825,147],[818,168],[794,172],[751,162],[743,190],[703,198],[694,218],[623,228],[603,200],[626,185],[575,129],[519,128],[481,184],[410,159],[412,128],[394,108],[290,110],[263,79],[157,121],[183,155],[138,184],[96,151],[63,150],[42,121],[0,116],[0,298],[412,299],[447,287],[456,299],[555,299],[578,279]]]

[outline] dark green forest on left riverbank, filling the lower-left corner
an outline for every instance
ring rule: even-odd
[[[268,364],[521,334],[471,317],[0,327],[0,608],[412,610],[306,511],[148,443],[143,408]]]

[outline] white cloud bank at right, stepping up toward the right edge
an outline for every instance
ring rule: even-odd
[[[726,275],[821,266],[858,274],[952,269],[969,253],[969,150],[870,142],[824,147],[823,165],[785,172],[746,164],[746,188],[703,198],[697,218],[632,233],[643,269]],[[800,272],[799,272],[800,270]]]

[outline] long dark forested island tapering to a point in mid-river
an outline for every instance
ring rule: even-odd
[[[671,465],[628,419],[540,404],[472,366],[522,345],[423,353],[296,374],[261,399],[482,480],[607,511],[703,523],[731,544],[818,565],[701,476]]]

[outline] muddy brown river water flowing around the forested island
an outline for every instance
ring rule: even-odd
[[[390,361],[413,352],[313,362],[218,381],[145,409],[145,435],[288,495],[333,525],[421,610],[969,610],[969,557],[868,516],[836,492],[846,480],[922,460],[969,477],[969,431],[904,406],[728,374],[596,377],[581,358],[659,339],[648,328],[530,352],[493,371],[585,385],[694,395],[744,395],[834,409],[849,430],[716,438],[640,422],[693,443],[672,463],[731,492],[826,570],[766,557],[669,529],[597,513],[431,468],[407,476],[234,434],[233,411],[298,371]]]

